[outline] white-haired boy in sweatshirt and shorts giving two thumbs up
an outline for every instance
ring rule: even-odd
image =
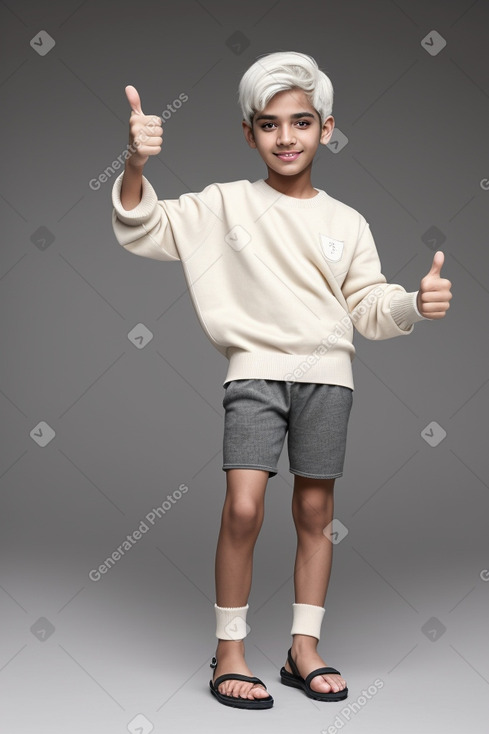
[[[288,431],[297,554],[293,642],[280,677],[310,698],[342,700],[346,681],[316,648],[352,404],[353,326],[386,339],[442,318],[451,298],[443,253],[419,291],[388,284],[364,217],[312,186],[313,158],[331,139],[334,118],[331,82],[310,56],[268,54],[241,79],[245,139],[268,177],[210,184],[179,199],[158,201],[142,175],[161,150],[161,118],[144,115],[134,87],[126,95],[133,154],[113,186],[115,236],[136,255],[182,262],[201,326],[229,359],[211,692],[228,706],[273,705],[246,664],[244,638],[265,489]]]

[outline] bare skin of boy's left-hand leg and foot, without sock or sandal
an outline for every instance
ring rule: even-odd
[[[253,551],[264,517],[268,472],[228,469],[226,498],[216,550],[216,604],[244,607],[253,573]],[[213,680],[224,673],[253,675],[244,657],[244,640],[219,640]],[[263,686],[239,680],[221,683],[219,691],[241,698],[267,698]]]

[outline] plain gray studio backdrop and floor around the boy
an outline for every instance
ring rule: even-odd
[[[483,0],[0,3],[2,732],[486,730],[488,22]],[[55,46],[41,56],[30,42],[43,30]],[[434,56],[422,45],[433,30],[446,40]],[[275,707],[236,711],[207,690],[227,362],[181,265],[118,245],[115,176],[89,186],[127,144],[127,84],[146,114],[189,97],[145,169],[160,198],[266,177],[237,86],[277,50],[330,75],[349,139],[320,148],[313,184],[364,214],[388,280],[417,289],[440,245],[454,284],[443,321],[355,339],[336,484],[348,534],[320,650],[357,713],[279,682],[295,553],[286,448],[247,639]],[[153,334],[143,349],[128,339],[139,323]],[[432,421],[446,431],[437,446],[423,437]],[[45,446],[41,422],[55,432]],[[91,581],[180,484],[171,511]]]

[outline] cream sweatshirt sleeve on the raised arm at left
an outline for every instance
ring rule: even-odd
[[[197,247],[215,223],[216,186],[182,194],[178,199],[158,197],[142,177],[141,201],[134,209],[121,203],[121,173],[112,187],[112,229],[124,249],[154,260],[182,260]]]

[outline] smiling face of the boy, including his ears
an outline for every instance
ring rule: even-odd
[[[312,166],[316,150],[326,145],[334,129],[330,115],[322,127],[319,115],[302,89],[278,92],[264,110],[255,113],[253,127],[243,121],[248,144],[257,148],[269,175],[294,176]]]

